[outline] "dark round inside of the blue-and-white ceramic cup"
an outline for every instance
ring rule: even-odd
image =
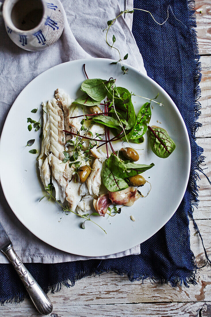
[[[42,20],[43,6],[40,0],[19,0],[11,11],[11,20],[19,30],[34,29]]]

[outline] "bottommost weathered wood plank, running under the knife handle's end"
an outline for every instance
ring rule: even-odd
[[[63,306],[53,303],[54,310],[51,317],[210,317],[211,303],[139,303],[139,304],[110,304],[110,305],[73,305],[71,301]],[[1,317],[38,317],[35,309],[25,306],[20,308],[17,304],[12,309],[1,308]]]

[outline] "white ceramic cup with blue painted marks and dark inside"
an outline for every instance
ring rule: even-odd
[[[65,13],[59,0],[5,0],[0,7],[10,39],[22,49],[47,49],[64,29]]]

